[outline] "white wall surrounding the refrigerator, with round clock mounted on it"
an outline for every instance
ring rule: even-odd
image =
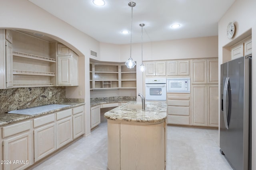
[[[256,1],[255,0],[236,0],[230,9],[224,14],[218,23],[218,53],[219,65],[230,59],[228,47],[248,36],[250,29],[252,31],[252,56],[254,57],[256,49]],[[232,21],[236,25],[236,33],[233,39],[228,39],[226,29],[228,23]],[[225,46],[225,49],[222,47]],[[252,170],[256,169],[256,60],[252,59]],[[220,67],[219,67],[220,82]],[[220,87],[220,84],[219,84]],[[220,94],[220,88],[219,88]],[[220,103],[220,102],[219,102]],[[220,108],[220,106],[219,106]],[[220,113],[219,113],[220,114]]]

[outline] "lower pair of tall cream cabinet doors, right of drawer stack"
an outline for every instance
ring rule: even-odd
[[[191,125],[218,127],[218,84],[192,85]]]

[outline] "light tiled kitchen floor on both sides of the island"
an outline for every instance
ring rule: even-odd
[[[166,170],[232,170],[217,145],[218,131],[168,126]],[[34,170],[108,170],[107,123]]]

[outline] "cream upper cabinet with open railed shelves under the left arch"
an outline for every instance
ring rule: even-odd
[[[65,45],[16,30],[0,30],[0,89],[78,86],[78,55]]]

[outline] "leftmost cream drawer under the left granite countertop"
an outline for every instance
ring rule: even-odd
[[[3,127],[3,138],[28,131],[30,129],[30,120],[21,123],[15,123],[14,125]]]

